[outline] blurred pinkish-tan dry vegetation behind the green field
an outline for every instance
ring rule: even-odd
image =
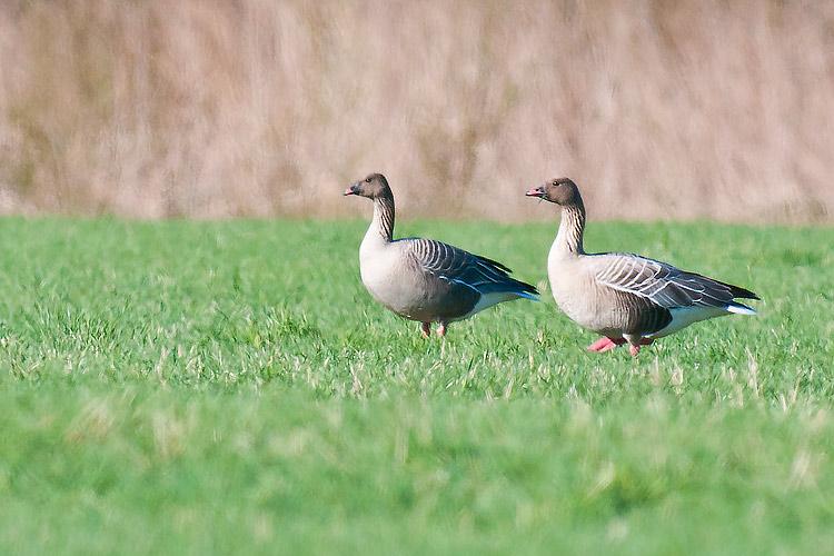
[[[831,222],[834,2],[4,0],[0,211]]]

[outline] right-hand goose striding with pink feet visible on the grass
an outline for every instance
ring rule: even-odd
[[[641,346],[699,320],[756,314],[735,301],[758,299],[748,289],[639,255],[586,254],[582,245],[585,205],[570,179],[555,179],[526,195],[562,206],[547,275],[559,309],[603,336],[588,346],[589,351],[608,351],[627,342],[632,356],[637,356]]]

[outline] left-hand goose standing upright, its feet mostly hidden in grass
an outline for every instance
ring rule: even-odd
[[[440,241],[394,239],[394,193],[381,173],[353,183],[345,195],[374,201],[374,219],[359,247],[361,280],[371,297],[400,317],[420,322],[424,337],[450,322],[513,299],[538,300],[535,286],[509,276],[500,262]]]

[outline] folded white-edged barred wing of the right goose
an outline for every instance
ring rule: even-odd
[[[649,299],[665,309],[745,307],[733,298],[758,299],[755,294],[744,288],[695,272],[686,272],[672,265],[638,255],[610,254],[603,257],[607,260],[595,275],[597,284]]]

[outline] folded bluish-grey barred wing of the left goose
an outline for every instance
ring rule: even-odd
[[[473,255],[433,239],[408,238],[408,252],[426,272],[476,290],[480,295],[515,294],[536,299],[535,286],[509,276],[512,270],[500,262]]]

